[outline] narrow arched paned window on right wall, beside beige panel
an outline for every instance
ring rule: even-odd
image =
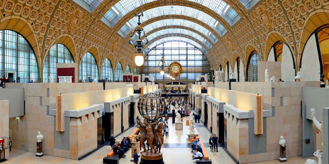
[[[249,57],[248,62],[248,81],[258,81],[258,61],[260,57],[257,53],[253,53]]]

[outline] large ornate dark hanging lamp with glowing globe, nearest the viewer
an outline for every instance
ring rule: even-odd
[[[136,54],[135,54],[135,64],[136,66],[142,66],[144,63],[144,56],[143,56],[143,48],[149,43],[149,40],[147,38],[147,35],[145,35],[145,31],[143,29],[142,26],[140,26],[140,17],[143,16],[143,11],[141,12],[141,14],[137,14],[137,12],[135,12],[135,16],[138,17],[138,26],[134,29],[132,35],[130,36],[129,39],[129,44],[131,44],[134,48],[136,48]],[[140,35],[143,32],[143,35],[145,36],[144,40],[145,40],[145,44],[143,44],[143,40],[141,40]],[[133,45],[133,36],[134,34],[138,35],[138,39],[135,45]]]

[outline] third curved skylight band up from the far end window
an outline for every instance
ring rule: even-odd
[[[146,33],[160,28],[160,27],[165,27],[165,26],[184,26],[184,27],[189,27],[192,28],[196,31],[199,31],[201,33],[203,33],[204,35],[207,36],[207,39],[211,40],[211,42],[213,42],[214,44],[218,42],[217,37],[212,34],[208,29],[206,29],[205,27],[194,23],[190,20],[184,20],[184,19],[162,19],[162,20],[158,20],[157,22],[151,23],[147,26],[144,27],[144,31]],[[142,35],[141,35],[142,36]],[[133,36],[133,40],[137,40],[137,35]]]

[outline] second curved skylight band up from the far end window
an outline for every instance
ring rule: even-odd
[[[198,39],[201,43],[205,44],[208,49],[211,49],[212,46],[211,44],[207,41],[206,38],[200,36],[199,34],[192,32],[190,30],[186,30],[186,29],[163,29],[163,30],[159,30],[157,32],[152,33],[151,35],[148,36],[149,41],[151,42],[152,39],[161,36],[161,35],[166,35],[166,36],[180,36],[180,35],[188,35],[188,36],[192,36],[196,39]],[[135,40],[136,42],[136,40]]]

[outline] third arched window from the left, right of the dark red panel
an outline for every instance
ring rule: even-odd
[[[94,55],[89,52],[84,54],[82,58],[79,78],[85,82],[92,82],[94,78],[98,79],[97,62]]]

